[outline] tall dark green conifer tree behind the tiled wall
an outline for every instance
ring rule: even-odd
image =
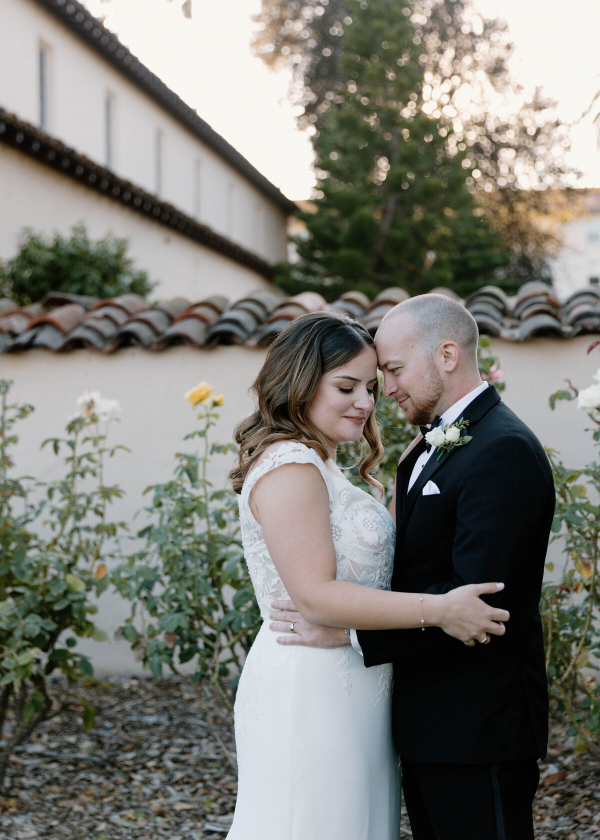
[[[338,48],[344,82],[314,122],[318,210],[303,214],[308,236],[297,239],[299,261],[282,268],[280,282],[296,291],[317,281],[329,297],[442,285],[466,295],[508,264],[467,189],[475,164],[426,113],[421,50],[403,8],[348,7]]]

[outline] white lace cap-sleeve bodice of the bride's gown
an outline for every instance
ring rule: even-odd
[[[389,589],[392,579],[395,526],[383,505],[369,493],[328,470],[314,449],[297,441],[284,441],[246,475],[239,495],[239,521],[261,616],[268,618],[274,598],[289,598],[271,560],[262,528],[248,499],[257,480],[283,464],[313,464],[323,475],[329,494],[329,519],[337,561],[337,579],[374,589]]]

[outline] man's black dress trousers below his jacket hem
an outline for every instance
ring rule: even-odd
[[[499,764],[402,762],[414,840],[534,840],[535,759]]]

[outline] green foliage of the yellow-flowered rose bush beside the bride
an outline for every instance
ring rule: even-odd
[[[132,603],[124,637],[155,675],[164,667],[194,662],[195,680],[218,685],[231,668],[237,680],[241,651],[248,651],[261,625],[239,540],[234,494],[213,490],[207,466],[231,444],[208,438],[218,414],[200,408],[200,428],[186,435],[203,447],[175,455],[171,480],[151,486],[150,522],[138,532],[145,546],[113,573],[122,596]],[[144,611],[144,633],[132,622]]]

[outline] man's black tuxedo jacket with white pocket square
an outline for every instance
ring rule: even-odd
[[[472,440],[432,454],[406,492],[418,444],[397,470],[392,590],[450,591],[502,581],[486,601],[506,633],[475,648],[438,627],[361,630],[367,667],[394,664],[393,731],[410,761],[480,764],[543,758],[548,690],[539,595],[555,491],[534,433],[489,386],[466,407]],[[439,495],[423,496],[429,480]]]

